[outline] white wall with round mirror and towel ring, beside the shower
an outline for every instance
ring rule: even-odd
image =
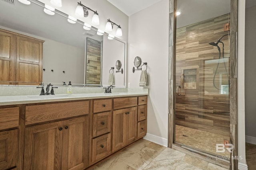
[[[134,58],[148,63],[148,133],[168,138],[169,0],[162,0],[129,17],[128,82],[139,86],[140,70],[132,73]]]

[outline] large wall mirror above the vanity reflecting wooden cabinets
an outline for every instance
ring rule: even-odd
[[[68,16],[58,10],[55,10],[54,15],[48,15],[42,7],[44,4],[39,1],[33,0],[30,5],[15,2],[10,4],[0,1],[0,29],[17,33],[12,40],[8,39],[9,34],[0,31],[2,47],[3,44],[9,44],[10,49],[12,48],[10,44],[15,46],[15,50],[9,50],[9,52],[0,48],[0,66],[2,67],[0,84],[31,85],[33,83],[27,82],[35,82],[34,84],[44,82],[62,86],[63,82],[71,81],[73,86],[104,86],[108,85],[110,68],[120,60],[124,74],[115,72],[115,86],[125,87],[126,42],[118,38],[108,39],[107,33],[97,35],[95,27],[86,30],[83,28],[82,21],[69,23]],[[17,38],[19,34],[43,40],[40,42],[42,47],[24,43],[24,39]],[[7,41],[9,43],[6,43]],[[23,46],[18,47],[17,42]],[[42,48],[38,60],[22,58],[22,53],[32,53],[27,49],[32,46],[33,49],[38,47],[39,51]],[[18,52],[19,55],[16,55]],[[39,53],[36,50],[34,52]],[[15,58],[14,64],[11,64],[14,60],[10,57],[12,55]],[[40,59],[42,63],[38,64]],[[23,73],[37,72],[40,69],[42,69],[41,79],[40,75],[39,78],[38,75],[22,77]]]

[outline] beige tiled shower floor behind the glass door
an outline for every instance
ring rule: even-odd
[[[185,137],[183,135],[186,135]],[[230,140],[229,136],[218,135],[216,133],[192,129],[180,125],[175,125],[175,141],[186,146],[206,151],[211,154],[216,153],[216,144],[223,144],[223,139]],[[218,153],[220,156],[230,157],[228,150]]]

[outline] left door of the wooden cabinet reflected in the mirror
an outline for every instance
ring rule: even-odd
[[[14,67],[14,35],[0,31],[0,81],[14,81]]]

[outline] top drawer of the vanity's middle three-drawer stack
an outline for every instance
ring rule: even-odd
[[[94,100],[93,113],[112,110],[112,99]]]

